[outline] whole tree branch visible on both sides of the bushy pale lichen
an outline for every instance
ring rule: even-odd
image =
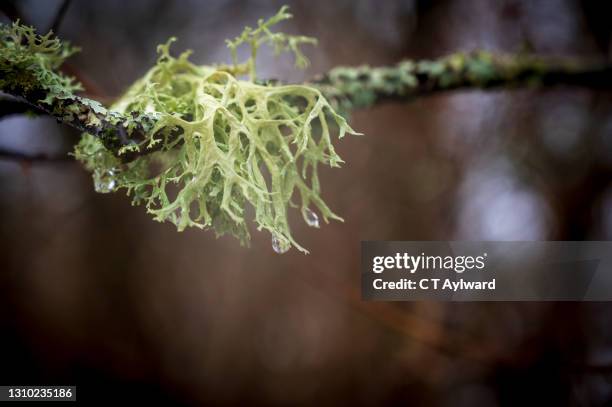
[[[403,61],[392,67],[339,67],[315,78],[319,88],[344,110],[368,108],[380,103],[407,102],[433,93],[457,89],[514,89],[518,87],[578,86],[594,90],[612,89],[612,66],[568,59],[488,52],[456,53],[433,61]],[[99,137],[115,154],[121,147],[147,139],[155,125],[154,115],[120,115],[98,102],[78,96],[53,98],[43,103],[41,89],[0,89],[59,122]],[[3,106],[3,110],[4,110]],[[9,109],[10,110],[10,109]],[[2,114],[0,114],[1,116]],[[131,129],[128,135],[127,128]],[[141,149],[142,150],[142,149]],[[122,154],[133,160],[154,149]]]

